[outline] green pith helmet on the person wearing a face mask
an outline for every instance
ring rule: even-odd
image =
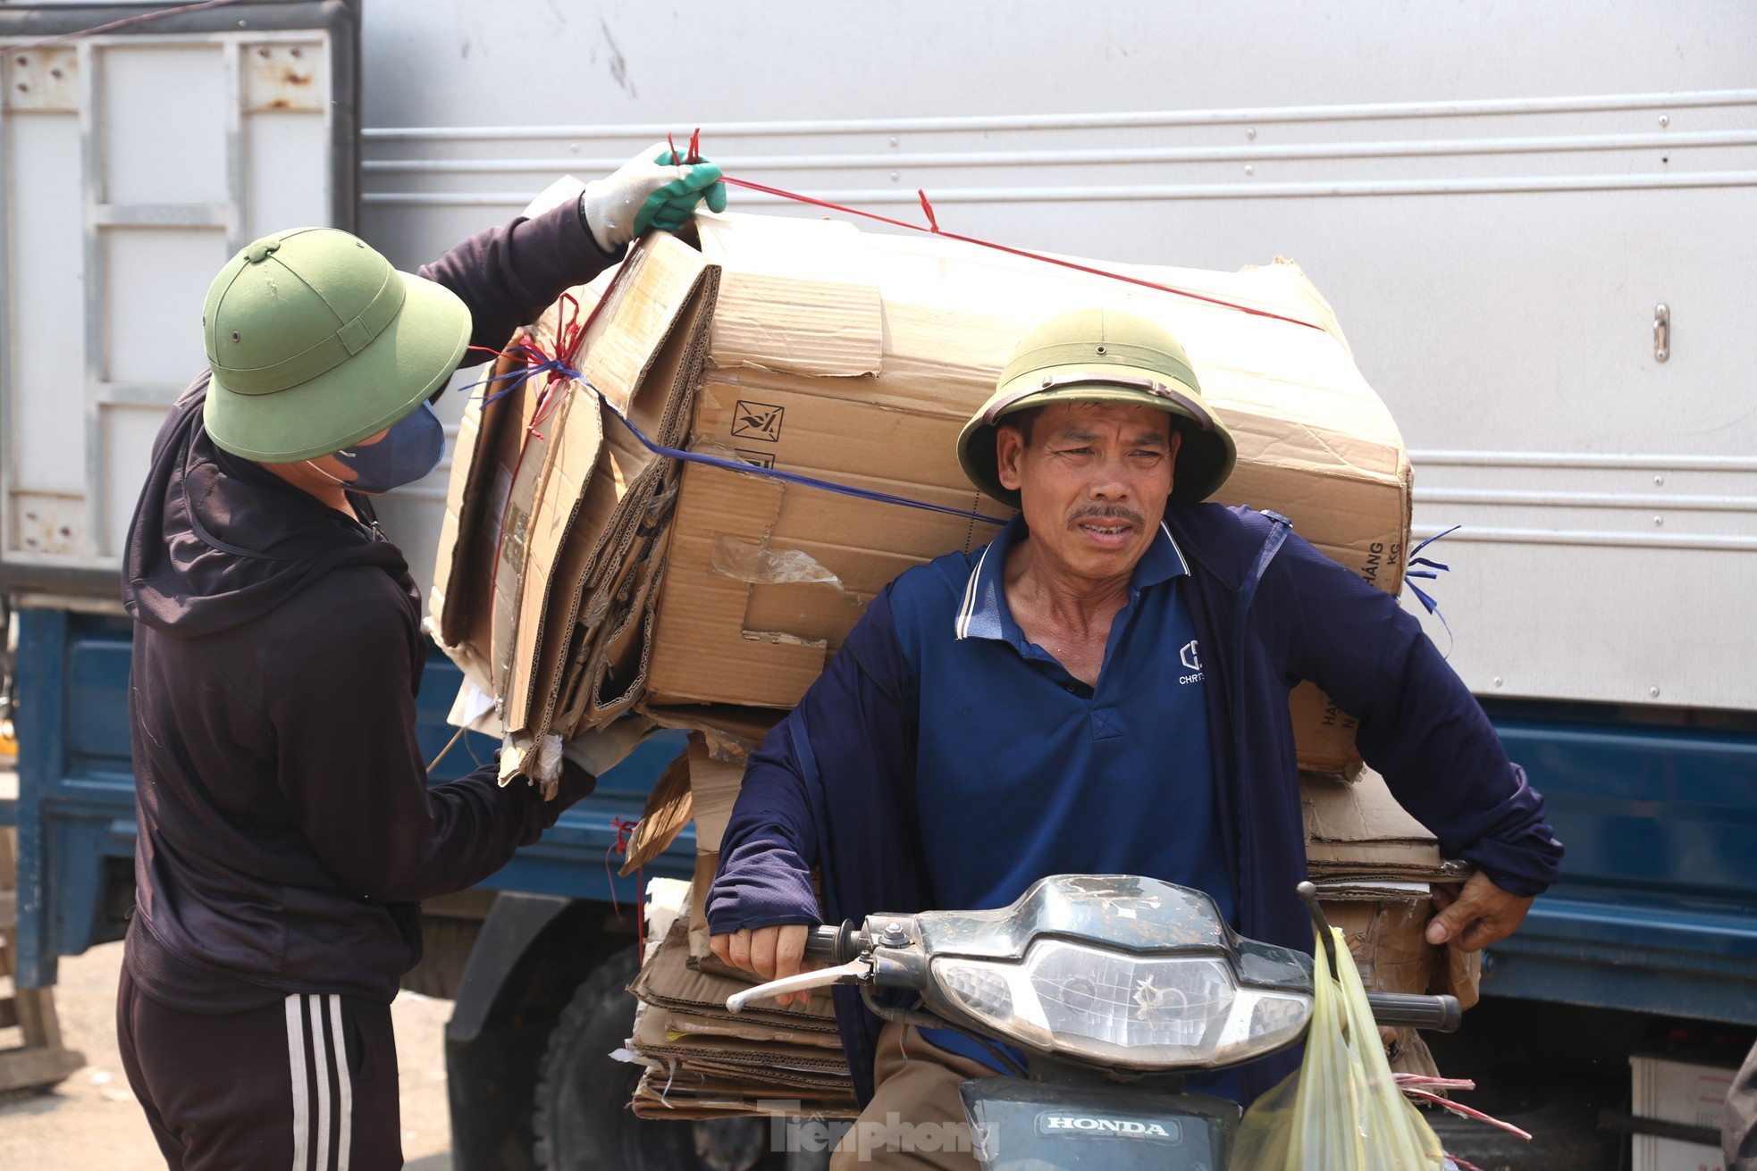
[[[457,295],[337,228],[265,235],[207,286],[202,421],[262,463],[341,451],[413,411],[469,346]]]

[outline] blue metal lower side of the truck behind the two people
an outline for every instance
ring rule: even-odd
[[[132,897],[128,621],[19,613],[19,981],[54,981],[54,960],[114,939]],[[422,744],[452,736],[457,669],[436,650],[418,702]],[[1567,844],[1564,881],[1485,959],[1483,992],[1703,1020],[1757,1024],[1757,723],[1743,716],[1492,702],[1515,760],[1550,801]],[[624,906],[615,818],[634,820],[676,755],[654,737],[487,885]],[[492,750],[466,737],[448,779]],[[685,829],[647,874],[689,878]]]

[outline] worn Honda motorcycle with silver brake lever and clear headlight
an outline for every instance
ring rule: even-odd
[[[1311,883],[1300,897],[1328,941]],[[806,959],[829,966],[738,992],[727,1009],[857,985],[884,1020],[1026,1055],[1024,1076],[959,1087],[986,1171],[1225,1171],[1242,1111],[1186,1090],[1186,1076],[1288,1048],[1312,1013],[1311,955],[1239,936],[1200,890],[1126,874],[1044,878],[1001,909],[815,927]],[[887,990],[915,1004],[886,1002]],[[1450,995],[1367,999],[1381,1025],[1450,1032],[1462,1017]]]

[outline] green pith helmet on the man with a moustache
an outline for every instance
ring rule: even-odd
[[[1117,309],[1077,309],[1044,321],[1012,351],[1000,383],[958,435],[970,481],[1010,507],[1019,493],[1000,483],[998,421],[1052,402],[1121,402],[1156,407],[1182,432],[1172,499],[1205,500],[1232,474],[1232,434],[1205,402],[1189,356],[1163,327]]]

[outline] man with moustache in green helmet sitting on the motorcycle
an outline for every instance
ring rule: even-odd
[[[1019,514],[880,592],[750,757],[708,892],[720,959],[792,974],[810,923],[1003,908],[1051,874],[1195,887],[1242,934],[1309,948],[1298,679],[1360,720],[1367,762],[1479,867],[1430,943],[1481,948],[1553,881],[1543,799],[1397,599],[1284,518],[1205,502],[1235,448],[1165,328],[1116,309],[1042,323],[958,456]],[[1024,1053],[882,1020],[852,988],[836,1020],[863,1113],[831,1167],[973,1171],[958,1087]],[[1290,1060],[1189,1085],[1246,1103]]]

